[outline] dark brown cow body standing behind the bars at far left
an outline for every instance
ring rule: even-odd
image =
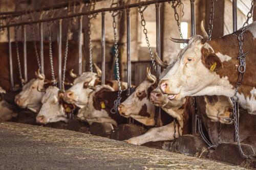
[[[40,49],[39,42],[36,42],[37,50]],[[19,56],[20,56],[20,63],[23,65],[23,42],[18,42],[19,47]],[[11,90],[10,84],[10,71],[9,71],[9,52],[8,52],[8,42],[1,42],[0,43],[0,86],[3,89],[9,91]],[[13,78],[14,84],[20,84],[20,79],[18,75],[18,62],[17,62],[17,53],[16,53],[16,46],[15,42],[12,42],[12,61],[13,61]],[[62,54],[65,53],[65,45],[62,45]],[[82,61],[84,61],[84,47],[82,47]],[[52,55],[53,55],[53,68],[55,70],[55,77],[57,77],[58,73],[58,44],[57,42],[52,43]],[[38,69],[38,65],[36,64],[36,54],[35,48],[32,41],[27,41],[27,61],[28,61],[28,80],[34,78],[33,72]],[[45,68],[45,77],[46,79],[51,78],[51,66],[50,66],[50,59],[49,59],[49,42],[44,42],[44,68]],[[75,72],[78,72],[78,48],[76,41],[69,41],[69,48],[68,48],[68,58],[67,58],[67,70],[71,70],[74,68]],[[62,61],[64,60],[64,55],[62,55]],[[73,78],[70,75],[66,76],[67,82],[72,82]]]

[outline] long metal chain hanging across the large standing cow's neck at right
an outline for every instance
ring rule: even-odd
[[[246,31],[246,29],[249,26],[249,19],[252,17],[252,13],[253,13],[253,8],[254,8],[254,4],[253,4],[253,0],[251,0],[251,8],[250,11],[247,14],[247,19],[241,29],[241,33],[238,35],[238,41],[239,41],[239,54],[238,54],[238,59],[239,59],[239,67],[238,67],[238,71],[239,71],[239,75],[238,75],[238,81],[235,85],[234,88],[234,96],[231,99],[232,103],[233,103],[233,116],[234,116],[234,130],[235,130],[235,134],[236,134],[236,138],[238,141],[238,147],[239,147],[239,151],[240,153],[245,157],[245,158],[249,158],[249,156],[245,155],[244,152],[242,151],[241,148],[241,143],[240,143],[240,138],[239,138],[239,129],[238,129],[238,119],[239,119],[239,98],[238,98],[238,87],[241,85],[243,77],[244,77],[244,73],[246,70],[246,63],[245,63],[245,57],[249,52],[243,52],[243,36],[244,33]],[[236,34],[235,34],[236,35]]]

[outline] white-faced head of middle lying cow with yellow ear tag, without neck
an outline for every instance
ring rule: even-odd
[[[81,120],[86,120],[90,125],[94,122],[97,123],[109,123],[117,126],[117,122],[111,118],[106,109],[108,102],[105,99],[98,98],[99,93],[104,91],[114,91],[109,85],[97,85],[93,87],[93,91],[88,95],[88,104],[78,111],[77,117]],[[103,102],[103,103],[102,103]]]

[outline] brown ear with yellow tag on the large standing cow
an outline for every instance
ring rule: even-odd
[[[223,68],[221,60],[214,53],[211,53],[205,56],[203,59],[203,64],[210,71],[219,71],[221,68]]]

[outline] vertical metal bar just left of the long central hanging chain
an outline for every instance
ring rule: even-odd
[[[101,62],[101,84],[105,84],[105,12],[101,13],[101,56],[102,56],[102,62]]]

